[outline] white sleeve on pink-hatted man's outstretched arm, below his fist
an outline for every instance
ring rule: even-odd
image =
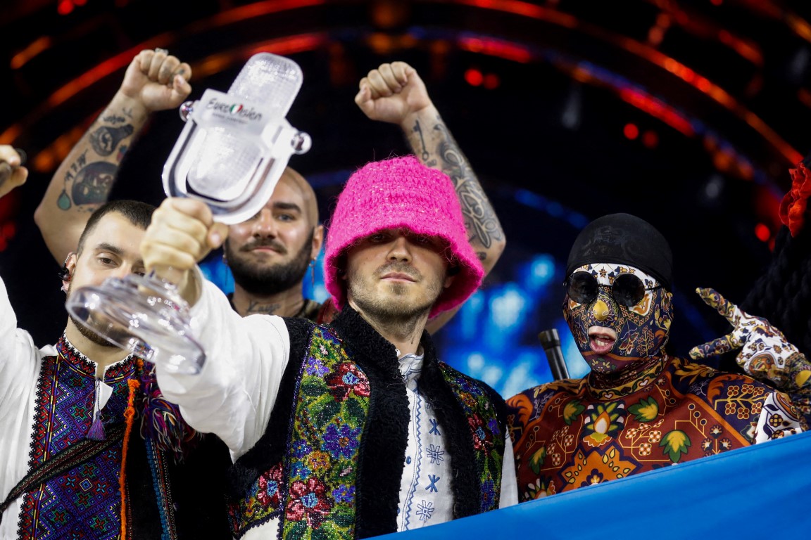
[[[290,334],[281,317],[240,317],[200,270],[197,279],[203,292],[191,308],[191,325],[205,363],[197,375],[166,372],[158,365],[157,381],[189,425],[219,436],[236,460],[268,425],[290,356]]]

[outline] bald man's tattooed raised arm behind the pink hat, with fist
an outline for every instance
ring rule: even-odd
[[[482,261],[485,275],[489,274],[507,244],[504,230],[417,71],[405,62],[383,64],[371,70],[360,81],[355,103],[371,120],[399,125],[414,155],[428,167],[451,177],[465,216],[470,244]],[[426,329],[436,332],[458,309],[428,321]]]

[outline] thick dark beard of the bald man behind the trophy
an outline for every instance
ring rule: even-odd
[[[225,257],[231,274],[234,274],[234,283],[256,296],[276,295],[302,283],[304,275],[307,274],[307,267],[310,266],[313,234],[315,229],[310,232],[307,241],[293,260],[265,266],[238,257],[230,242],[225,240]]]

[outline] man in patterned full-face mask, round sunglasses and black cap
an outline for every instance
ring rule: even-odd
[[[807,429],[786,394],[667,354],[672,254],[650,223],[628,214],[594,220],[577,236],[566,274],[564,318],[591,372],[508,399],[519,500]],[[791,351],[779,330],[766,330],[771,352]]]

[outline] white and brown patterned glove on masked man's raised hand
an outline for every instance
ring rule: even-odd
[[[690,358],[702,359],[741,349],[736,362],[749,376],[770,381],[787,393],[811,393],[811,364],[789,343],[783,333],[762,317],[745,313],[714,289],[696,289],[698,296],[718,310],[732,325],[732,333],[690,350]]]

